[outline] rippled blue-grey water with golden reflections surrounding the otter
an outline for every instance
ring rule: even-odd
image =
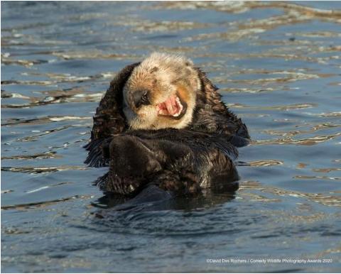
[[[340,270],[340,25],[340,2],[1,2],[1,270]],[[249,127],[234,197],[113,212],[92,185],[96,106],[153,50],[192,58]]]

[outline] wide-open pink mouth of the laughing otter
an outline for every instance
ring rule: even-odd
[[[173,119],[180,119],[186,113],[187,104],[175,94],[168,97],[165,102],[158,104],[156,110],[158,111],[159,116],[169,116]]]

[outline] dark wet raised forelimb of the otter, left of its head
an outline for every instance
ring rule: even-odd
[[[110,83],[106,94],[99,102],[94,115],[91,141],[107,138],[112,134],[121,133],[126,129],[126,118],[122,111],[122,89],[129,79],[131,72],[140,63],[127,65],[121,70]]]

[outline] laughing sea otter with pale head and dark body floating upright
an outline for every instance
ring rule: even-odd
[[[235,147],[249,138],[191,60],[152,53],[112,80],[94,116],[85,163],[109,165],[96,182],[104,192],[163,197],[236,190]]]

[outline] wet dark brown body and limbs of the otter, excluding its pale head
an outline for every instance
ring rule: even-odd
[[[95,167],[109,165],[97,185],[119,194],[136,194],[148,184],[177,194],[228,188],[228,182],[238,179],[234,146],[248,143],[247,127],[221,102],[217,87],[197,68],[202,90],[187,128],[129,131],[122,89],[137,65],[119,72],[97,107],[85,161]]]

